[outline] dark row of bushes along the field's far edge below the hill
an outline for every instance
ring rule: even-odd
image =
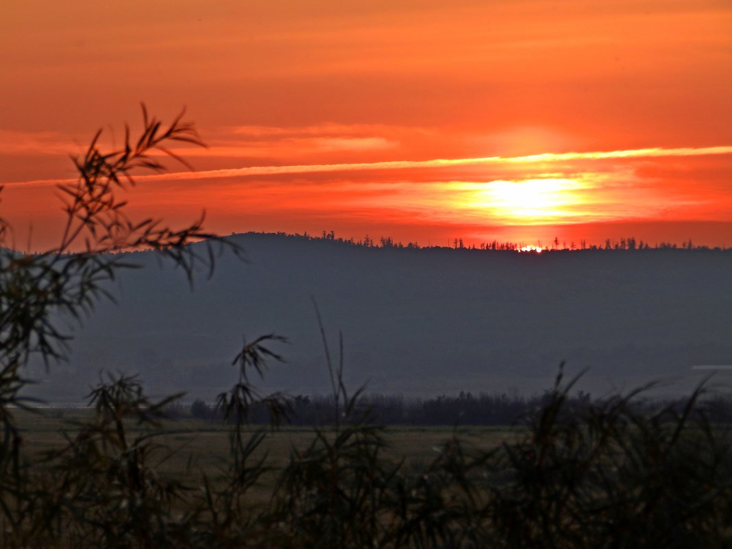
[[[484,392],[472,395],[460,392],[458,396],[441,395],[433,398],[410,398],[402,395],[363,395],[358,402],[358,417],[365,417],[374,425],[514,425],[524,417],[547,406],[552,395],[532,395]],[[581,414],[590,406],[602,406],[602,399],[592,399],[586,392],[569,397],[565,411]],[[633,403],[638,414],[653,414],[668,406],[683,408],[678,400],[645,400]],[[698,404],[698,410],[715,423],[732,422],[732,399],[710,397]],[[176,412],[184,412],[179,407]],[[288,423],[291,425],[323,426],[336,422],[339,410],[332,395],[297,395],[289,399]],[[220,422],[222,415],[212,404],[195,400],[190,414],[198,419]],[[264,405],[250,408],[247,418],[255,425],[266,425],[271,417]]]

